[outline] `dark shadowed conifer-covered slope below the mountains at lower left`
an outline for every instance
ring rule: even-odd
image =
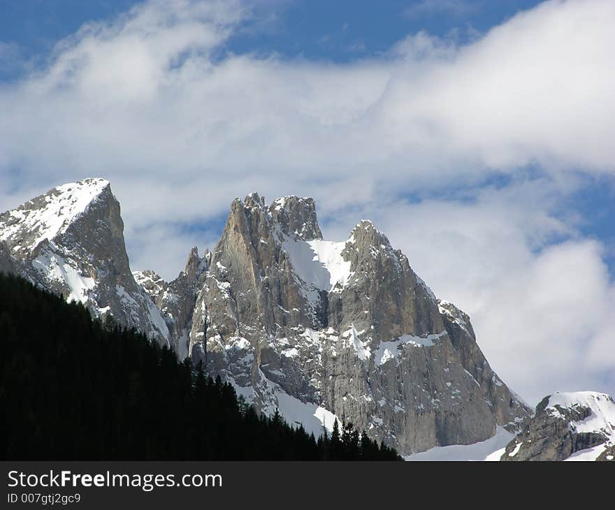
[[[316,439],[259,415],[171,349],[1,274],[0,369],[5,460],[399,459],[350,424]]]

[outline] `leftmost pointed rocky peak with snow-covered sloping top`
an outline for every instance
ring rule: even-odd
[[[130,271],[123,231],[106,180],[64,184],[0,214],[0,270],[168,344],[159,309]]]

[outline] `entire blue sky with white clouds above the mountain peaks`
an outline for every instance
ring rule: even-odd
[[[615,394],[615,2],[0,0],[0,210],[105,177],[133,269],[236,196],[375,222],[531,404]]]

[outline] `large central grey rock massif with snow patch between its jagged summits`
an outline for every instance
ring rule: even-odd
[[[192,356],[261,411],[321,406],[403,454],[482,441],[528,414],[468,316],[370,221],[329,242],[310,198],[237,199],[202,282]]]

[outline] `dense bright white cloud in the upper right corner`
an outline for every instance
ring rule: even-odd
[[[447,64],[397,80],[393,130],[422,120],[447,151],[486,166],[537,159],[613,171],[614,20],[612,1],[551,1],[516,15]]]

